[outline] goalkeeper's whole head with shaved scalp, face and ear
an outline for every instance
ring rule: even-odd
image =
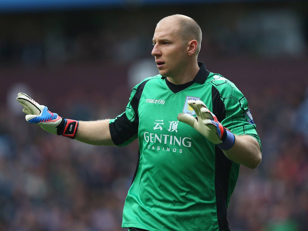
[[[152,50],[160,74],[175,77],[196,64],[201,39],[200,26],[192,18],[175,14],[161,19],[156,25]]]

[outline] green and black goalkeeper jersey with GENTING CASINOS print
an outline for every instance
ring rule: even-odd
[[[230,230],[227,208],[240,166],[177,115],[196,116],[187,100],[202,100],[224,127],[261,143],[241,91],[198,64],[200,70],[188,84],[173,85],[161,75],[144,79],[133,88],[125,112],[110,120],[117,146],[139,139],[139,162],[122,227]]]

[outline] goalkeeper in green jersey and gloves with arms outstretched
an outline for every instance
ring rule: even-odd
[[[139,139],[123,210],[122,227],[129,230],[230,230],[226,210],[239,166],[261,162],[245,97],[197,62],[201,38],[192,18],[160,20],[152,50],[160,75],[136,85],[125,112],[112,120],[63,119],[18,94],[26,120],[53,134],[96,145]]]

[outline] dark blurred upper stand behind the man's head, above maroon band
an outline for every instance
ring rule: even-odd
[[[158,20],[176,13],[191,15],[201,26],[207,56],[297,57],[306,54],[307,8],[302,1],[269,1],[0,14],[0,67],[132,63],[148,57]]]

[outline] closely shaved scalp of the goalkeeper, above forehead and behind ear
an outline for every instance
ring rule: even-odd
[[[161,19],[156,27],[161,23],[167,23],[171,26],[178,25],[180,28],[178,35],[180,36],[183,45],[186,45],[191,40],[196,40],[198,45],[195,54],[196,56],[199,54],[201,49],[202,32],[200,26],[195,20],[182,14],[174,14]]]

